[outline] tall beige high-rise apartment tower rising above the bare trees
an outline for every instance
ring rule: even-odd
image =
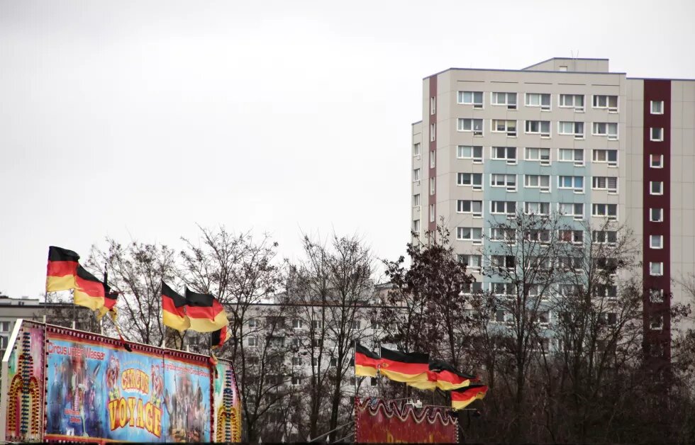
[[[682,282],[695,274],[695,80],[553,58],[520,70],[447,69],[423,79],[422,104],[412,230],[422,236],[443,218],[486,288],[479,252],[495,218],[559,212],[630,227],[651,295],[645,340],[668,351],[670,305],[691,298]]]

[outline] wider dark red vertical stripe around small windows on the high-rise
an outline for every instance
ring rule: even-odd
[[[671,363],[671,81],[645,79],[644,91],[644,323],[645,356],[652,369],[666,371]],[[663,101],[664,113],[652,114],[651,101]],[[663,128],[663,141],[651,140],[651,128]],[[662,169],[650,168],[650,154],[663,154]],[[650,195],[650,181],[663,181],[663,195]],[[663,208],[662,223],[650,221],[650,208]],[[650,235],[663,235],[662,249],[650,248]],[[649,264],[661,261],[662,276],[650,276]],[[650,289],[662,289],[663,303],[652,303]],[[663,328],[652,330],[650,320],[654,315],[663,317]],[[662,351],[662,352],[661,352]]]

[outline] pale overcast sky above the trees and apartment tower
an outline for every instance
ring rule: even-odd
[[[196,224],[408,241],[421,79],[606,57],[695,77],[695,2],[0,1],[0,291],[48,246],[179,245]]]

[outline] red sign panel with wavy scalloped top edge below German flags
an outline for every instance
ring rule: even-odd
[[[367,398],[355,400],[355,442],[453,444],[458,424],[439,407],[399,407],[395,402]]]

